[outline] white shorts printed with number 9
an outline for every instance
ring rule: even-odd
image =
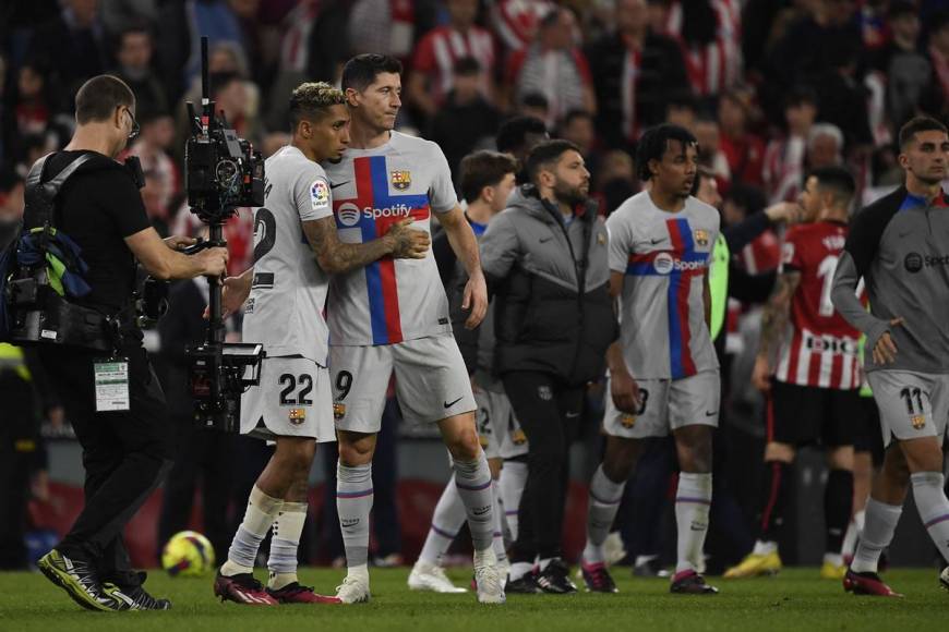
[[[434,336],[375,347],[331,347],[336,428],[379,433],[393,372],[403,417],[434,423],[477,408],[455,338]]]

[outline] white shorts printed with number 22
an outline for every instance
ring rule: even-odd
[[[335,441],[329,370],[297,355],[265,357],[261,384],[241,397],[241,434]]]

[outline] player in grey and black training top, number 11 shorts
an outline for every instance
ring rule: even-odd
[[[946,126],[926,117],[900,130],[906,183],[853,220],[833,276],[840,314],[866,333],[865,369],[880,411],[887,447],[874,477],[866,524],[843,586],[893,596],[877,575],[903,500],[913,499],[949,562],[949,500],[944,491],[942,441],[949,415],[949,175]],[[854,289],[866,283],[869,312]],[[949,570],[940,576],[949,588]]]

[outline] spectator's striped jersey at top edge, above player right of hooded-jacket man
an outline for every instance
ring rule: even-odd
[[[713,96],[742,78],[742,8],[737,0],[711,0],[716,38],[705,46],[688,46],[682,38],[682,2],[673,0],[665,19],[665,34],[682,47],[692,89]]]

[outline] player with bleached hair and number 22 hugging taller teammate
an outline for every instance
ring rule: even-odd
[[[316,443],[335,440],[323,318],[327,275],[382,256],[424,257],[430,244],[408,222],[365,244],[341,243],[329,182],[319,161],[339,158],[349,144],[343,93],[324,83],[299,86],[290,98],[290,120],[291,144],[265,163],[265,206],[254,210],[254,266],[225,280],[223,301],[226,313],[247,301],[243,339],[263,343],[267,353],[260,386],[241,399],[241,433],[276,443],[215,579],[221,600],[248,605],[339,601],[297,581],[310,465]],[[264,590],[253,567],[272,526]]]

